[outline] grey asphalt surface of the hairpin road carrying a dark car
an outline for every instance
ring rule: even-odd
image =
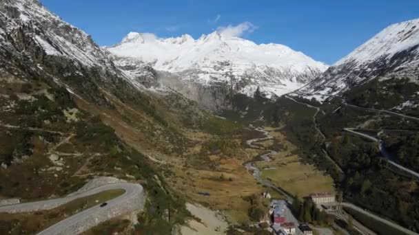
[[[108,210],[111,214],[111,216],[108,219],[111,219],[113,216],[119,216],[121,214],[112,214],[112,208],[116,208],[119,205],[123,205],[123,203],[127,203],[130,199],[134,198],[145,198],[145,195],[143,194],[143,187],[140,184],[137,183],[111,183],[104,186],[99,186],[97,188],[94,188],[92,190],[88,190],[86,192],[82,192],[81,194],[76,194],[71,197],[63,197],[60,199],[50,199],[45,201],[36,201],[31,203],[21,203],[16,205],[6,205],[3,207],[0,207],[0,212],[10,212],[10,213],[16,213],[16,212],[33,212],[37,210],[48,210],[51,208],[56,208],[59,205],[63,205],[65,203],[68,203],[69,201],[73,201],[74,199],[78,199],[81,197],[86,197],[92,194],[96,194],[99,192],[103,192],[106,190],[114,190],[114,189],[123,189],[125,190],[125,193],[122,194],[119,197],[116,197],[110,201],[108,201],[108,205],[105,205],[105,207],[101,208],[99,205],[96,205],[92,208],[89,208],[88,210],[84,210],[83,212],[74,214],[73,216],[70,216],[67,219],[64,219],[63,221],[60,221],[59,223],[56,223],[55,225],[52,225],[51,227],[48,227],[46,230],[43,230],[42,232],[39,232],[39,234],[62,234],[63,231],[67,230],[68,227],[72,227],[74,225],[77,225],[79,223],[82,223],[83,221],[86,221],[87,219],[94,218],[97,214],[103,213],[103,210]],[[143,205],[141,205],[143,206]],[[45,209],[48,208],[48,209]],[[133,206],[133,209],[136,207]],[[138,210],[138,208],[136,209]]]

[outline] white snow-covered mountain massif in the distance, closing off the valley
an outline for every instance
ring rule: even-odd
[[[121,43],[107,47],[116,65],[136,74],[149,65],[158,71],[205,87],[229,84],[252,95],[260,86],[280,96],[294,91],[327,69],[327,65],[285,45],[260,44],[219,32],[194,39],[190,35],[157,38],[131,32]]]

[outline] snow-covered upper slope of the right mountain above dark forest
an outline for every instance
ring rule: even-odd
[[[418,82],[418,76],[419,19],[413,19],[386,27],[296,93],[324,100],[374,78]]]

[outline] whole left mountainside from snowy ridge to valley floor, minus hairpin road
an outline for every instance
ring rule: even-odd
[[[247,215],[237,192],[265,190],[242,165],[247,124],[153,87],[159,73],[147,65],[122,71],[88,34],[38,1],[0,1],[0,199],[59,197],[109,176],[147,191],[138,225],[125,221],[135,234],[170,234],[190,218],[191,198]],[[0,234],[43,229],[25,215],[0,217]]]

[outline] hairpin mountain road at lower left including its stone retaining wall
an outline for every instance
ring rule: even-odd
[[[43,235],[79,234],[90,229],[90,227],[94,227],[94,225],[107,221],[108,219],[142,210],[145,203],[143,187],[138,183],[110,183],[70,197],[2,206],[0,207],[0,212],[17,213],[49,210],[73,201],[74,199],[115,189],[123,189],[125,190],[125,193],[107,201],[108,205],[105,205],[105,207],[96,205],[88,210],[84,210],[83,212],[79,212],[67,219],[64,219],[63,221],[48,227],[42,232],[39,232],[39,234]]]

